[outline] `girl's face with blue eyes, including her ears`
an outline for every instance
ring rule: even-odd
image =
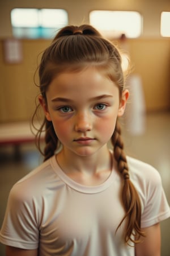
[[[58,75],[46,92],[47,105],[41,96],[39,100],[63,148],[88,156],[107,148],[128,95],[125,90],[120,99],[116,84],[103,72],[88,67]]]

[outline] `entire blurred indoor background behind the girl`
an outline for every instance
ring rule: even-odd
[[[126,153],[159,171],[170,204],[169,0],[6,0],[0,2],[0,226],[12,185],[42,162],[30,130],[41,53],[60,27],[82,23],[120,48],[125,71],[130,59],[121,119]],[[169,225],[161,224],[162,256],[169,256]]]

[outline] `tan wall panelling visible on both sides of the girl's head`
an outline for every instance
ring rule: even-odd
[[[7,64],[0,41],[0,122],[27,120],[35,109],[37,56],[49,40],[22,40],[23,62]],[[128,41],[134,73],[141,76],[147,111],[170,109],[170,39]]]

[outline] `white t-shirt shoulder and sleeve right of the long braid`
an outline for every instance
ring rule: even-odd
[[[147,228],[170,217],[170,208],[159,172],[150,164],[128,157],[130,179],[141,199],[141,227]]]

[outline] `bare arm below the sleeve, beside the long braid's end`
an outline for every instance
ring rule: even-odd
[[[161,236],[160,224],[143,229],[146,237],[135,246],[135,256],[160,256]]]

